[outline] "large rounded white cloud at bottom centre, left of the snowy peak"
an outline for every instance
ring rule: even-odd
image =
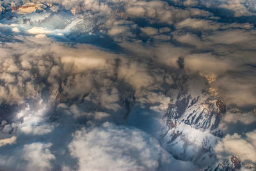
[[[173,162],[173,168],[175,162],[180,168],[185,164],[171,158],[146,133],[111,123],[76,131],[68,147],[78,159],[79,170],[156,170],[164,163]]]

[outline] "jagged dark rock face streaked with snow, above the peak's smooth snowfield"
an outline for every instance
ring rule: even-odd
[[[218,128],[220,116],[225,113],[225,105],[221,100],[214,102],[211,98],[201,101],[197,96],[181,95],[177,97],[175,104],[170,104],[166,112],[166,117],[171,120],[179,120],[189,124],[196,129],[214,130]]]

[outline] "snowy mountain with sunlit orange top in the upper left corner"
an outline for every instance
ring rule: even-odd
[[[54,6],[41,1],[30,3],[9,3],[0,5],[1,20],[4,24],[17,24],[20,31],[40,27],[44,29],[42,34],[68,34],[80,35],[90,33],[93,28],[100,27],[104,22],[97,15],[80,15],[72,10],[59,10],[60,6]],[[39,33],[29,32],[31,34]]]

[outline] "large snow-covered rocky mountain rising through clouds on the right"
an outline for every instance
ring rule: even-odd
[[[202,78],[181,78],[188,88],[172,95],[164,115],[166,128],[161,136],[164,147],[181,160],[193,161],[200,167],[216,161],[214,145],[221,138],[218,125],[225,113],[225,103],[211,92]]]

